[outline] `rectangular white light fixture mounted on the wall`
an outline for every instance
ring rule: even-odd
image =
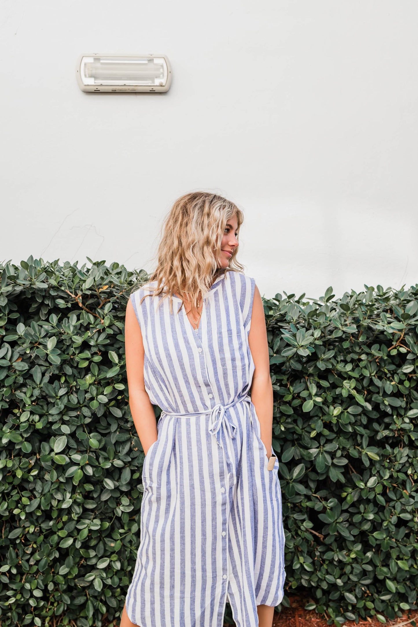
[[[168,92],[170,63],[165,55],[81,55],[77,67],[83,92]]]

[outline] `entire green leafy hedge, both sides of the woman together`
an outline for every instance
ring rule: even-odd
[[[120,619],[135,566],[144,452],[123,320],[148,275],[88,261],[0,265],[5,626],[105,627]],[[416,609],[417,297],[418,285],[264,299],[283,605],[305,591],[330,624]]]

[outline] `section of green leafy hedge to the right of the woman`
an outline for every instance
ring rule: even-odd
[[[287,584],[330,623],[417,609],[417,297],[264,303]]]

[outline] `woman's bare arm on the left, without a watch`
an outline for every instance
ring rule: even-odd
[[[129,407],[145,455],[157,441],[157,421],[144,384],[144,343],[133,305],[129,299],[125,316],[125,353]]]

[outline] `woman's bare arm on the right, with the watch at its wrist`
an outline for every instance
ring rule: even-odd
[[[248,343],[255,365],[253,382],[251,383],[251,400],[260,422],[261,440],[263,440],[267,456],[270,458],[273,429],[273,386],[270,378],[266,319],[264,318],[263,301],[257,286],[254,290]]]

